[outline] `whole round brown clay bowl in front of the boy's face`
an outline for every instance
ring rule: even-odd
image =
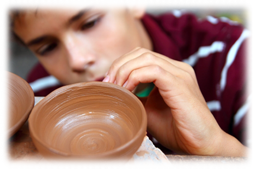
[[[38,151],[61,168],[120,168],[143,141],[147,115],[125,88],[104,82],[60,87],[33,108]]]

